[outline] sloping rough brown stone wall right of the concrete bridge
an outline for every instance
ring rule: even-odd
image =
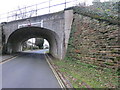
[[[118,25],[74,14],[67,58],[100,67],[117,68]]]

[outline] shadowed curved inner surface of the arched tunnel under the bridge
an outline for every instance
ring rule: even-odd
[[[7,52],[15,53],[21,51],[22,43],[30,38],[46,39],[50,44],[49,53],[56,58],[61,58],[59,36],[54,31],[41,27],[23,27],[15,30],[8,38]]]

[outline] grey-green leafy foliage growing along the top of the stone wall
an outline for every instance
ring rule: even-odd
[[[119,6],[120,2],[103,2],[88,7],[75,7],[74,13],[83,14],[101,21],[107,21],[112,24],[120,24]]]

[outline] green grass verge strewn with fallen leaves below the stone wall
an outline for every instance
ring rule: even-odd
[[[116,88],[118,86],[117,72],[98,66],[72,60],[52,61],[71,82],[74,88]]]

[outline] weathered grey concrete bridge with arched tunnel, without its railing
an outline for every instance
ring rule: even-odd
[[[73,20],[73,10],[31,17],[4,24],[6,52],[21,51],[21,45],[30,38],[44,38],[50,44],[50,53],[63,59]]]

